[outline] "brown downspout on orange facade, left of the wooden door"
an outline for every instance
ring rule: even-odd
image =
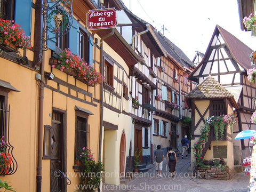
[[[44,0],[45,2],[45,0]],[[35,13],[41,15],[42,12],[42,1],[36,0],[36,10]],[[39,23],[39,30],[41,31],[41,17],[37,22]],[[45,22],[45,21],[44,21]],[[35,26],[38,28],[38,26]],[[44,32],[43,32],[44,35]],[[40,39],[37,39],[37,41]],[[38,48],[38,53],[40,47]],[[36,55],[37,56],[37,55]],[[39,106],[38,106],[38,138],[37,138],[37,175],[36,175],[36,191],[41,192],[42,190],[42,155],[43,155],[43,106],[44,106],[44,60],[45,54],[44,51],[42,53],[42,63],[40,67],[41,74],[41,83],[39,85]],[[37,63],[35,63],[37,65]]]

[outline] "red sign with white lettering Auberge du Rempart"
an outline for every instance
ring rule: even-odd
[[[89,10],[86,15],[87,27],[91,30],[114,28],[117,25],[115,8]]]

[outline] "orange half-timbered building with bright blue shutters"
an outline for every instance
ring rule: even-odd
[[[89,147],[99,159],[100,85],[54,67],[69,48],[99,71],[100,48],[86,29],[86,12],[98,3],[74,1],[71,15],[64,2],[0,2],[1,19],[14,20],[31,36],[25,50],[0,47],[0,129],[12,155],[11,169],[1,171],[0,179],[17,191],[75,191],[80,182],[77,150]],[[67,33],[54,32],[59,28],[52,19],[58,12],[69,18]]]

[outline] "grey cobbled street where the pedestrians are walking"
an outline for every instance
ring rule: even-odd
[[[210,191],[227,191],[227,192],[247,192],[249,191],[250,175],[244,172],[236,173],[230,180],[199,179],[193,174],[189,174],[190,154],[188,158],[178,157],[176,164],[175,177],[166,170],[166,158],[163,161],[163,178],[156,177],[155,165],[147,165],[148,172],[134,173],[134,178],[125,184],[109,185],[103,184],[102,192],[210,192]]]

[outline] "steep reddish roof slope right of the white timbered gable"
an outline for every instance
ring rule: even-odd
[[[220,31],[224,41],[227,43],[227,46],[229,47],[234,59],[245,69],[252,68],[249,54],[251,54],[253,50],[225,29],[218,25],[217,28]]]

